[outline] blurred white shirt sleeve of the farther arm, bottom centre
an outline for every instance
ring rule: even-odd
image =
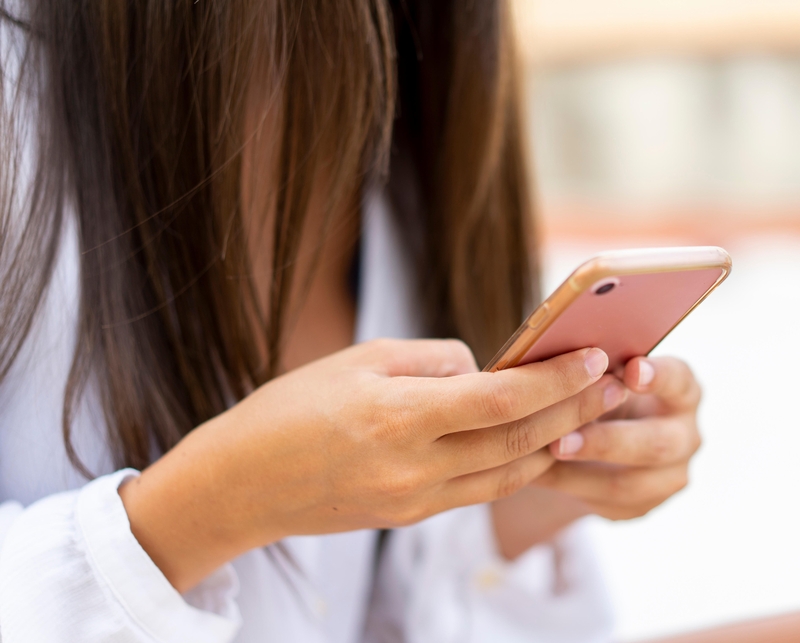
[[[390,534],[365,642],[606,643],[612,625],[585,524],[508,562],[478,505]]]

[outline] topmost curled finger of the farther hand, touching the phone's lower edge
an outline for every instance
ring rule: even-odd
[[[630,360],[623,375],[634,393],[657,396],[668,408],[697,408],[701,389],[687,364],[674,357],[637,357]]]

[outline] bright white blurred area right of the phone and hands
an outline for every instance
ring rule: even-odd
[[[551,245],[548,291],[600,249]],[[729,250],[731,277],[656,351],[705,389],[690,485],[642,519],[594,525],[622,641],[800,610],[800,238]]]

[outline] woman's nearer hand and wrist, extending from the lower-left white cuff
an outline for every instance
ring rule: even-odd
[[[584,349],[479,373],[453,340],[379,340],[287,373],[120,489],[133,534],[185,591],[290,535],[407,525],[514,493],[542,449],[624,400]]]

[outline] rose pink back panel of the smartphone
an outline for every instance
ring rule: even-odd
[[[605,294],[583,292],[518,364],[602,348],[609,370],[647,355],[720,279],[720,268],[621,275]],[[603,282],[607,282],[604,279]]]

